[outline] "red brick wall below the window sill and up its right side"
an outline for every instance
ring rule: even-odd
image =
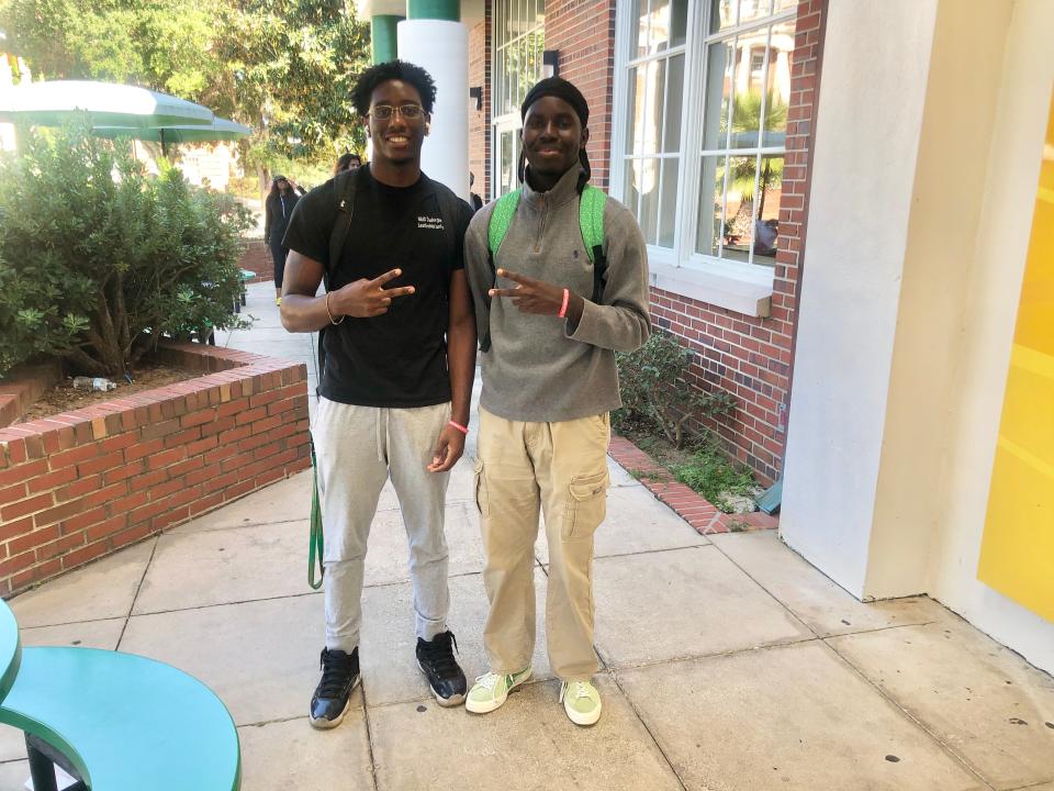
[[[657,325],[696,353],[692,380],[739,398],[736,415],[710,427],[764,483],[780,477],[786,443],[826,9],[826,0],[801,0],[798,5],[771,315],[755,319],[659,289],[651,292]]]

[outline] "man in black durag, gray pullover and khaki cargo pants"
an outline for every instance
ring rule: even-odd
[[[554,77],[535,86],[520,112],[523,193],[493,261],[487,232],[495,203],[475,214],[466,236],[478,333],[483,347],[490,342],[475,492],[491,604],[484,632],[491,672],[466,706],[494,711],[530,677],[540,508],[550,558],[549,660],[568,716],[592,725],[601,716],[592,683],[593,533],[606,509],[608,412],[620,405],[615,352],[640,347],[651,328],[648,258],[633,215],[607,199],[606,282],[594,293],[594,263],[580,229],[588,105]]]

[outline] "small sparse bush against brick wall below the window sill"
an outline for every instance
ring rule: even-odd
[[[661,428],[680,448],[686,438],[688,420],[725,414],[736,408],[736,398],[730,393],[706,392],[686,380],[692,353],[669,333],[654,332],[639,349],[616,354],[616,359],[623,396],[616,425],[642,420]]]

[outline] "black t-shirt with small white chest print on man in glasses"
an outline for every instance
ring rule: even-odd
[[[296,204],[283,246],[321,263],[329,289],[390,269],[403,274],[385,288],[413,286],[388,312],[348,316],[322,333],[326,365],[318,392],[330,401],[362,406],[430,406],[450,400],[446,332],[450,277],[464,268],[464,232],[472,210],[463,200],[446,227],[439,193],[449,190],[422,174],[413,187],[389,187],[359,169],[351,227],[340,261],[329,261],[337,218],[334,181]],[[452,193],[451,196],[452,197]]]

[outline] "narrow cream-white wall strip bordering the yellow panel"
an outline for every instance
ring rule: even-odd
[[[971,267],[958,394],[931,593],[1054,672],[1054,624],[977,580],[980,539],[1054,89],[1054,3],[1017,0],[1001,65],[985,203]]]

